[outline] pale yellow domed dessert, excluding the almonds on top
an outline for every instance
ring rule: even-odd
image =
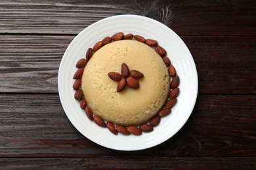
[[[117,83],[108,73],[121,73],[121,64],[144,74],[140,88],[126,86],[117,92]],[[88,61],[82,90],[93,114],[123,126],[148,122],[163,107],[169,92],[169,73],[161,57],[150,46],[135,40],[116,41],[103,46]]]

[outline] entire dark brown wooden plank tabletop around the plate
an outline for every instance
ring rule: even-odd
[[[74,37],[118,14],[154,18],[186,43],[199,91],[168,141],[99,146],[68,120],[58,67]],[[0,1],[0,169],[256,169],[255,1]]]

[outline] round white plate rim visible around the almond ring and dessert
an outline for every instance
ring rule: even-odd
[[[171,114],[161,118],[160,124],[154,127],[154,131],[142,133],[140,136],[125,136],[121,133],[114,135],[107,128],[97,126],[87,118],[85,112],[80,109],[79,103],[74,99],[75,91],[72,86],[73,75],[77,70],[75,64],[79,59],[85,58],[87,49],[93,47],[97,41],[107,36],[111,37],[117,32],[133,33],[146,39],[156,39],[158,44],[167,51],[167,56],[171,59],[180,77],[181,92]],[[169,27],[144,16],[120,15],[89,25],[70,43],[58,71],[58,92],[62,107],[70,122],[85,137],[107,148],[141,150],[163,143],[175,135],[186,123],[196,103],[198,75],[190,51]]]

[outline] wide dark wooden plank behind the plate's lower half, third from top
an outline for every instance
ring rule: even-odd
[[[58,94],[1,94],[0,157],[256,156],[255,103],[255,95],[199,95],[188,122],[171,139],[121,152],[83,137]]]

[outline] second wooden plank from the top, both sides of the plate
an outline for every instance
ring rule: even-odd
[[[256,93],[256,37],[184,36],[200,93]],[[58,92],[58,67],[74,36],[2,35],[0,92]]]

